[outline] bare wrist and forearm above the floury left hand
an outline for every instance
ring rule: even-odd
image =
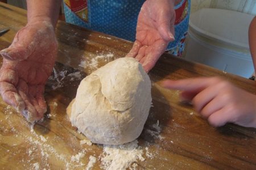
[[[51,22],[56,26],[61,0],[27,0],[28,23],[38,20]]]

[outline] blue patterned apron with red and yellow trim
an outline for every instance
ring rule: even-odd
[[[139,11],[144,0],[64,0],[67,23],[135,41]],[[190,0],[175,6],[175,41],[167,46],[169,53],[181,56],[188,32]]]

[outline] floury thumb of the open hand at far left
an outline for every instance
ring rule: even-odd
[[[3,58],[11,61],[23,61],[29,56],[28,49],[26,47],[14,45],[11,45],[9,46],[9,48],[1,50],[0,54]]]

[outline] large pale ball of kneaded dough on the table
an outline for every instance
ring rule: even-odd
[[[119,58],[81,81],[70,120],[93,143],[122,145],[141,134],[151,100],[150,78],[142,65]]]

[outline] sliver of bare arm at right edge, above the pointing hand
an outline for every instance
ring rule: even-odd
[[[253,58],[254,70],[256,73],[256,17],[254,17],[249,27],[249,45],[251,57]]]

